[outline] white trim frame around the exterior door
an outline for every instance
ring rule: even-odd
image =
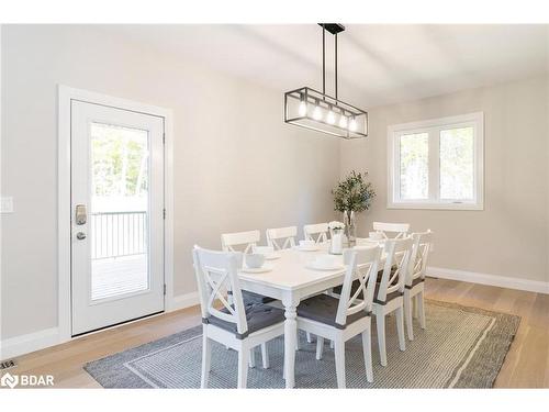
[[[71,208],[70,208],[70,108],[72,100],[102,104],[144,114],[164,118],[164,281],[166,294],[164,311],[169,312],[173,305],[173,123],[170,109],[135,102],[93,91],[75,89],[58,85],[57,112],[57,270],[58,270],[58,331],[59,343],[72,339],[71,335],[71,291],[70,291],[70,249],[71,249]]]

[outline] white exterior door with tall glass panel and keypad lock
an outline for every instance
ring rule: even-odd
[[[165,119],[70,109],[75,336],[164,311]]]

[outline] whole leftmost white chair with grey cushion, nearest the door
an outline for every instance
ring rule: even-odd
[[[284,334],[284,311],[265,304],[245,304],[238,285],[239,256],[194,246],[194,271],[202,313],[202,378],[208,387],[212,341],[238,352],[238,388],[246,388],[250,350]],[[233,291],[233,303],[224,290]],[[214,307],[221,302],[221,310]]]

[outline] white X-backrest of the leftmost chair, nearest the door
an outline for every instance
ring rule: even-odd
[[[238,267],[242,260],[240,253],[208,250],[194,246],[192,250],[194,274],[200,296],[202,321],[208,322],[210,316],[236,324],[239,334],[246,334],[248,324],[238,285]],[[226,291],[233,293],[233,304],[225,299]],[[222,310],[214,307],[219,301]]]

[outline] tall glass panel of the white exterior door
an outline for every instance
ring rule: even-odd
[[[149,288],[148,132],[91,123],[91,300]]]

